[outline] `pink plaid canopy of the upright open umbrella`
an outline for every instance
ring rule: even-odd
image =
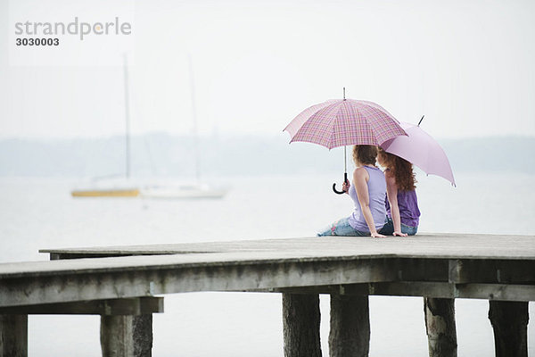
[[[354,99],[332,99],[312,105],[284,129],[291,140],[323,145],[381,145],[407,133],[379,104]]]

